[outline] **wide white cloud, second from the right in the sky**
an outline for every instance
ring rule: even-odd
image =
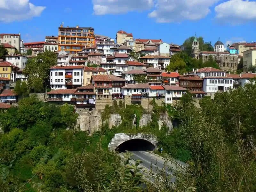
[[[210,7],[220,0],[158,0],[156,9],[148,16],[158,23],[199,20],[206,17]]]

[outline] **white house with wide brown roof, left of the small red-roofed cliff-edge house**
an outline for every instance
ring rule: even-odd
[[[142,98],[147,98],[150,86],[148,84],[126,84],[121,88],[124,96],[131,97],[132,102],[141,102]]]

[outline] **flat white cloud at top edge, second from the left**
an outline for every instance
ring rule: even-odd
[[[144,11],[154,6],[153,0],[92,0],[95,15]]]

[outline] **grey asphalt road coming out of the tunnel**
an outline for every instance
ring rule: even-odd
[[[167,167],[164,167],[164,160],[162,157],[153,154],[152,152],[148,151],[131,151],[134,155],[132,158],[134,160],[140,159],[142,163],[140,164],[142,167],[144,167],[147,170],[150,170],[152,168],[152,171],[157,173],[157,170],[165,169],[165,172],[167,175],[173,175],[173,173],[168,170]],[[172,169],[179,169],[177,164],[174,164],[172,162],[168,162],[167,164]],[[175,177],[172,177],[172,182],[175,182]]]

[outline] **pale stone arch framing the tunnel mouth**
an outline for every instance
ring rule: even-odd
[[[110,151],[115,151],[116,148],[124,142],[134,139],[146,140],[149,143],[153,144],[155,148],[157,146],[156,137],[150,134],[138,133],[136,135],[127,135],[125,133],[116,133],[114,138],[108,144],[108,149]]]

